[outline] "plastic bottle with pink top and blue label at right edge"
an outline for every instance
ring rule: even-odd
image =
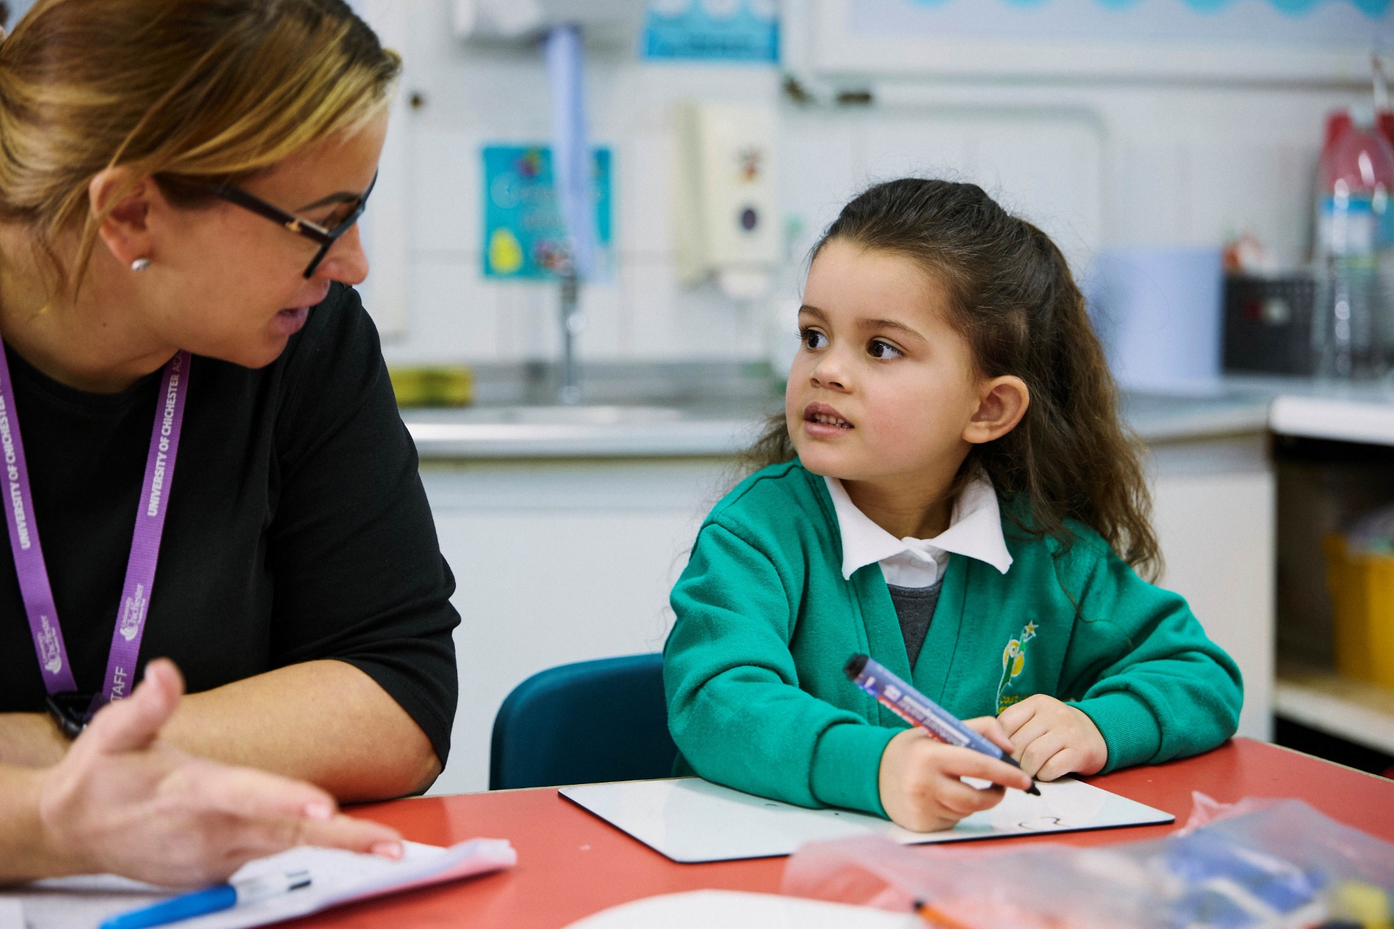
[[[1316,372],[1381,375],[1394,358],[1394,148],[1372,109],[1328,123],[1317,176],[1313,248]]]

